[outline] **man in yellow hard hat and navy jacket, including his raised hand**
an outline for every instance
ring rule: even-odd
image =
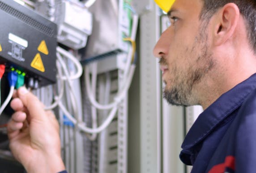
[[[174,105],[200,104],[205,109],[182,144],[181,160],[193,165],[192,173],[254,173],[256,0],[156,1],[171,21],[154,49],[161,58],[165,98]],[[42,167],[52,172],[64,169],[52,114],[25,88],[16,96],[11,104],[16,113],[9,123],[14,156],[31,172]],[[24,126],[26,116],[29,126]],[[40,132],[34,124],[51,128]],[[47,143],[51,140],[56,144]],[[42,163],[29,159],[20,146],[32,157],[39,153]],[[47,162],[49,153],[56,167]]]

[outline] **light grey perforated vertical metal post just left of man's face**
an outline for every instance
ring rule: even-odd
[[[153,56],[159,37],[158,8],[151,1],[140,24],[140,115],[141,173],[161,173],[161,82],[158,62]]]

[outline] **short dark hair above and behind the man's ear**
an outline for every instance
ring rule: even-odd
[[[203,8],[200,19],[209,21],[209,19],[228,3],[234,3],[238,6],[247,25],[247,37],[249,43],[256,54],[256,0],[202,0]]]

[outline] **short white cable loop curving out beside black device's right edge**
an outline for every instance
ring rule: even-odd
[[[72,54],[70,54],[68,51],[62,49],[61,47],[57,47],[57,52],[62,54],[64,57],[69,58],[71,61],[74,62],[74,64],[77,66],[77,74],[74,74],[69,77],[70,80],[80,78],[83,74],[83,67],[81,63],[75,58]],[[62,77],[63,80],[67,80],[67,77]]]

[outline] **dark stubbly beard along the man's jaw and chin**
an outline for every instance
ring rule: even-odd
[[[213,56],[207,45],[207,34],[202,31],[199,33],[201,34],[196,36],[192,48],[186,48],[185,54],[181,55],[187,57],[192,55],[191,58],[194,58],[195,61],[190,63],[186,69],[180,69],[175,65],[168,68],[168,72],[173,78],[165,81],[166,84],[171,82],[171,86],[166,85],[164,98],[172,105],[192,106],[199,104],[194,86],[201,82],[204,76],[215,66]],[[164,58],[161,58],[159,63],[168,65]]]

